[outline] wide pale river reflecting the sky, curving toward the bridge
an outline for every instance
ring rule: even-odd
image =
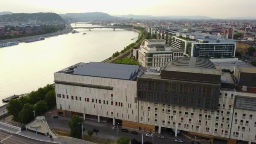
[[[5,97],[52,84],[53,73],[72,64],[103,61],[138,37],[124,29],[75,30],[79,33],[0,48],[0,105]]]

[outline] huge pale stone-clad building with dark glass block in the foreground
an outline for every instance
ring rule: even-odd
[[[162,69],[79,63],[54,73],[57,109],[67,117],[176,136],[180,131],[214,144],[256,144],[255,73],[255,67],[236,67],[233,78],[198,57]]]

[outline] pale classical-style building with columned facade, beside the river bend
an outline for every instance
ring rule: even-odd
[[[138,50],[138,61],[141,67],[164,67],[169,61],[183,57],[183,51],[171,48],[165,40],[144,40]]]

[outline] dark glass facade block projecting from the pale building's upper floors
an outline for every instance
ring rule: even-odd
[[[137,95],[139,101],[216,110],[219,86],[138,77]]]

